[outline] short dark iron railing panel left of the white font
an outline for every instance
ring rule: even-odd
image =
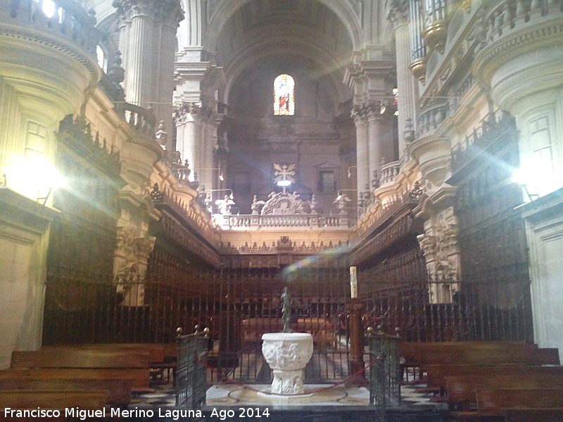
[[[205,404],[209,328],[182,335],[177,329],[176,406],[196,409]]]

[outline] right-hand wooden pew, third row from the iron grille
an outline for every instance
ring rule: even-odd
[[[450,409],[470,410],[476,404],[476,391],[496,388],[562,388],[563,374],[529,373],[504,375],[491,373],[468,373],[464,376],[446,376],[447,402]]]

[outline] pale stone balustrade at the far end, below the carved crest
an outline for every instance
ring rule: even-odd
[[[351,229],[355,217],[348,215],[224,215],[222,228],[227,230],[258,229]]]

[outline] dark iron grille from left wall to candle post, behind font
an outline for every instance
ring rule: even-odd
[[[294,300],[291,326],[312,333],[315,352],[305,368],[309,383],[349,373],[346,300],[348,268],[309,262],[294,269],[201,269],[182,279],[167,274],[111,282],[49,279],[44,344],[169,343],[177,327],[209,328],[208,379],[270,383],[261,351],[263,333],[281,331],[280,295]],[[289,283],[289,284],[288,284]]]

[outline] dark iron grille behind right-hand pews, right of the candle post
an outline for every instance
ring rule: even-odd
[[[448,292],[451,300],[436,302],[438,291]],[[399,328],[405,341],[529,341],[527,295],[529,283],[424,279],[372,291],[365,298],[365,321],[388,333]]]

